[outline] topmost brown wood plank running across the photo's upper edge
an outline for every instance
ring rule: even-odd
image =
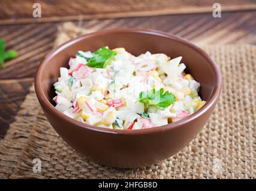
[[[32,5],[41,4],[42,17],[32,17]],[[212,13],[215,0],[1,0],[0,24]],[[222,11],[256,10],[255,0],[219,0]]]

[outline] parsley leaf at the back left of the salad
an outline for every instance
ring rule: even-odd
[[[100,48],[95,53],[92,53],[93,57],[90,58],[86,65],[89,67],[104,68],[110,64],[110,61],[113,60],[116,54],[118,54],[116,51],[109,50],[105,47]]]

